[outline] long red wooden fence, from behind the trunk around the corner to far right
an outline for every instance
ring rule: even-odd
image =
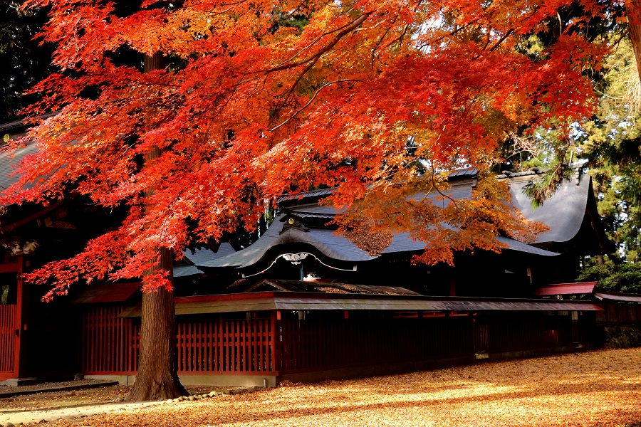
[[[83,315],[85,374],[134,374],[137,322],[122,307]],[[179,374],[294,374],[376,364],[474,357],[580,341],[570,315],[402,317],[379,312],[345,318],[342,311],[265,312],[262,318],[179,316]]]

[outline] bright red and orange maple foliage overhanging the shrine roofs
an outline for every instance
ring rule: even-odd
[[[39,151],[0,202],[47,203],[72,188],[129,207],[120,228],[28,280],[53,283],[47,297],[78,280],[144,277],[145,290],[170,290],[159,253],[253,228],[275,196],[320,185],[358,207],[346,227],[410,231],[428,243],[424,261],[499,251],[496,234],[526,233],[486,173],[499,142],[522,127],[570,132],[595,106],[583,72],[608,45],[577,28],[605,5],[580,1],[583,19],[541,51],[524,47],[575,3],[145,0],[119,14],[109,1],[27,1],[51,7],[42,38],[58,72],[33,88],[43,97],[26,113],[58,114],[31,130]],[[123,51],[161,52],[168,65],[145,72]],[[439,171],[461,164],[481,170],[479,186],[445,203]],[[447,211],[407,201],[430,189]]]

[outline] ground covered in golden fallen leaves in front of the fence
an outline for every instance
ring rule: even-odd
[[[641,426],[641,349],[285,384],[48,426]]]

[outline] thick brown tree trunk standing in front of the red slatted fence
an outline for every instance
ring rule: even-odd
[[[162,68],[162,56],[145,56],[145,73]],[[149,166],[160,157],[160,149],[147,153],[145,164]],[[151,196],[149,189],[145,196]],[[158,258],[155,268],[145,271],[145,276],[158,270],[167,270],[173,283],[174,254],[168,248],[152,248]],[[173,292],[160,288],[155,292],[142,294],[142,325],[140,325],[140,355],[138,371],[131,392],[130,401],[174,399],[184,396],[187,391],[178,379],[178,357],[176,343],[176,309]]]

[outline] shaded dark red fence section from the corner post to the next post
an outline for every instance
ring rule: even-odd
[[[316,315],[316,316],[313,316]],[[283,313],[276,370],[283,373],[419,362],[471,353],[469,318],[350,318]]]

